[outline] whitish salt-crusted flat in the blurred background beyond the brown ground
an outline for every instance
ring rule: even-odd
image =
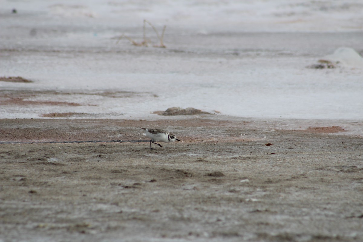
[[[360,119],[362,12],[358,0],[2,0],[0,77],[32,82],[0,81],[0,117]]]

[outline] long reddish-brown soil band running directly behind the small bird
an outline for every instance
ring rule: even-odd
[[[47,117],[66,118],[78,113],[51,113]],[[0,141],[82,141],[148,140],[138,127],[163,128],[184,142],[246,142],[256,137],[242,137],[244,122],[227,120],[104,120],[104,119],[0,119]],[[238,128],[230,128],[238,127]],[[215,127],[218,127],[217,129]]]

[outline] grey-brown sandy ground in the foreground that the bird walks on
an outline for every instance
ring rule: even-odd
[[[202,115],[0,127],[2,242],[363,240],[363,139],[352,132],[362,122]],[[150,150],[137,127],[181,141]]]

